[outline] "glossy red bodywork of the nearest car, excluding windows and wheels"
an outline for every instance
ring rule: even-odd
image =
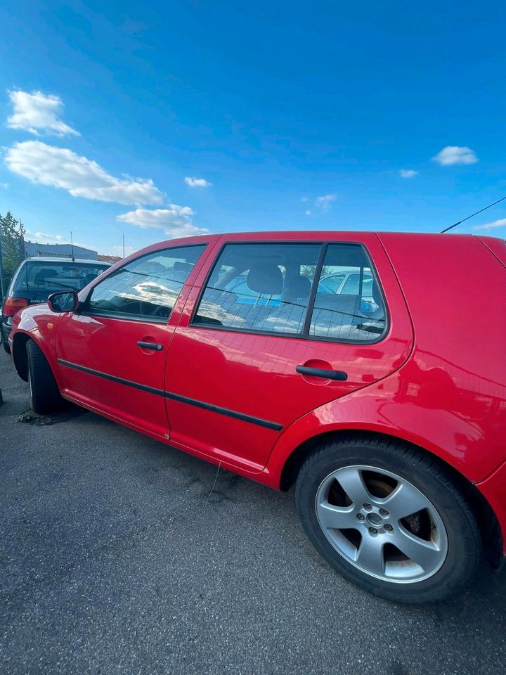
[[[387,335],[358,345],[192,326],[221,245],[238,241],[363,244],[384,290]],[[57,315],[38,306],[15,317],[14,346],[21,333],[36,340],[68,399],[271,487],[280,487],[292,452],[323,433],[367,430],[404,439],[476,484],[506,534],[504,242],[459,235],[249,233],[173,240],[142,253],[202,242],[207,248],[166,325],[122,320],[119,330],[117,319]],[[162,342],[163,352],[146,354],[134,346],[148,337]],[[57,356],[167,397],[65,371]],[[314,381],[295,373],[296,365],[309,362],[344,370],[349,379]],[[188,405],[189,399],[278,428]]]

